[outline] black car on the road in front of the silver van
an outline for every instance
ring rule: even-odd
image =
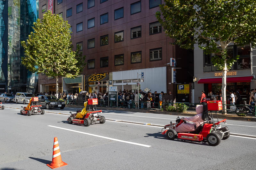
[[[63,100],[57,99],[55,96],[52,95],[39,95],[38,97],[38,104],[42,105],[46,109],[50,109],[52,107],[59,107],[63,109],[66,104]]]

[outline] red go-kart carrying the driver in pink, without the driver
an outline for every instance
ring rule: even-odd
[[[216,102],[217,102],[218,108],[212,108],[211,105],[212,104],[216,105]],[[221,140],[228,139],[230,135],[229,133],[230,130],[228,130],[228,127],[221,128],[221,125],[220,125],[221,122],[226,123],[226,119],[219,121],[217,117],[218,121],[213,121],[212,112],[210,112],[210,115],[208,115],[208,110],[209,111],[211,109],[222,110],[221,101],[208,101],[207,105],[203,106],[204,123],[201,126],[199,126],[195,131],[177,133],[175,131],[175,128],[178,127],[181,123],[186,123],[186,121],[181,120],[178,116],[176,119],[176,123],[170,122],[170,124],[164,126],[164,128],[162,129],[162,131],[164,130],[162,134],[163,135],[166,134],[167,137],[171,140],[175,139],[176,137],[179,139],[192,140],[192,141],[206,140],[207,143],[211,146],[217,146],[218,144],[220,144]]]

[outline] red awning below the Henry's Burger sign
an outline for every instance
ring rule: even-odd
[[[228,77],[227,83],[235,83],[235,82],[251,82],[253,76],[245,76],[245,77]],[[222,83],[222,78],[201,78],[198,82],[200,83]]]

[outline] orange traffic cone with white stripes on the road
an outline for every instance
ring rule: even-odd
[[[61,155],[60,155],[60,147],[58,143],[57,137],[54,137],[54,143],[53,143],[53,153],[52,153],[52,163],[47,164],[52,169],[68,165],[65,162],[61,160]]]

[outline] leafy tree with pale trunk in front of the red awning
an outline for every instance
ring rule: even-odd
[[[194,44],[205,54],[214,54],[212,63],[222,71],[223,114],[226,114],[226,74],[239,58],[231,58],[227,47],[256,45],[255,0],[164,0],[156,18],[172,44],[193,49]]]

